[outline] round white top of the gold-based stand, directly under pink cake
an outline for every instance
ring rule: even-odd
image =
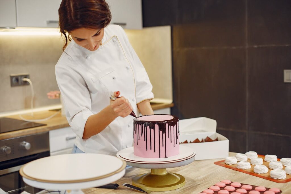
[[[174,168],[192,163],[195,160],[196,152],[186,146],[180,145],[180,153],[168,158],[143,158],[134,155],[133,147],[129,147],[117,152],[116,156],[124,161],[127,165],[138,168]]]

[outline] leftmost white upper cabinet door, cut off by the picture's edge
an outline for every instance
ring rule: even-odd
[[[0,0],[0,28],[16,27],[16,6],[13,0]]]

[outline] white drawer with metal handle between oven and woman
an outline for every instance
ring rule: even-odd
[[[74,133],[70,127],[49,131],[50,152],[72,148],[76,136],[76,133]]]

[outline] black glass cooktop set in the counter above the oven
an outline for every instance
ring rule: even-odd
[[[0,117],[0,133],[20,130],[20,129],[27,129],[27,128],[32,128],[32,127],[38,127],[38,126],[44,126],[44,125],[46,124]]]

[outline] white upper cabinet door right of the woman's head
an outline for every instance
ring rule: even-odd
[[[141,0],[106,0],[110,6],[112,20],[125,29],[142,29]]]

